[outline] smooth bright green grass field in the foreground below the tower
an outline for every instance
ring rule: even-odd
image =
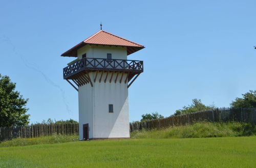
[[[0,167],[255,167],[256,136],[119,139],[0,148]]]

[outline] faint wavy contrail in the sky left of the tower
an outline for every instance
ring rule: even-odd
[[[50,83],[50,84],[51,84],[52,86],[54,86],[55,88],[58,88],[58,89],[59,89],[59,91],[60,91],[60,93],[61,93],[62,101],[63,101],[63,103],[65,104],[66,109],[67,109],[69,115],[73,115],[72,111],[71,111],[70,108],[69,108],[69,105],[68,105],[69,103],[68,103],[68,101],[67,101],[67,99],[66,99],[65,91],[63,91],[60,86],[58,86],[56,83],[54,83],[44,72],[42,72],[41,70],[39,70],[39,68],[38,68],[35,64],[32,64],[32,63],[28,62],[28,60],[26,60],[26,59],[23,57],[22,54],[18,53],[18,52],[16,51],[16,47],[13,45],[13,43],[11,42],[11,40],[10,40],[8,37],[6,37],[6,36],[0,37],[0,40],[1,40],[1,41],[4,41],[4,42],[6,42],[6,43],[8,43],[9,45],[12,46],[13,52],[14,52],[16,55],[18,55],[20,59],[22,59],[24,65],[25,65],[26,67],[28,67],[28,68],[30,68],[30,69],[32,69],[32,70],[34,70],[34,71],[40,73],[40,74],[45,78],[45,80],[46,80],[48,83]]]

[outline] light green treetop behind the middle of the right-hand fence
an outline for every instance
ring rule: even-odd
[[[193,99],[192,104],[188,106],[184,106],[183,109],[176,110],[174,115],[177,116],[177,115],[183,115],[187,113],[195,113],[197,111],[214,109],[214,108],[216,108],[214,104],[206,106],[201,102],[200,99]]]

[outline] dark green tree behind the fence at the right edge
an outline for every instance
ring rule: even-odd
[[[230,103],[233,108],[256,107],[256,91],[249,91],[242,94],[243,98],[236,98]]]

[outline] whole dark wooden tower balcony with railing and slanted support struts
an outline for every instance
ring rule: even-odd
[[[96,72],[94,79],[91,79],[89,75],[90,72]],[[105,79],[102,79],[104,72],[106,72]],[[121,76],[120,83],[122,81],[126,83],[131,80],[127,85],[129,88],[141,72],[143,72],[143,61],[83,58],[63,68],[63,78],[78,91],[70,80],[72,80],[77,87],[81,87],[87,83],[90,83],[93,87],[93,82],[96,81],[97,76],[99,77],[99,82],[101,82],[101,79],[106,82],[108,74],[111,74],[110,82],[114,81],[116,83],[118,76]],[[116,74],[116,78],[112,80],[114,73]],[[124,74],[126,74],[125,79],[123,79]]]

